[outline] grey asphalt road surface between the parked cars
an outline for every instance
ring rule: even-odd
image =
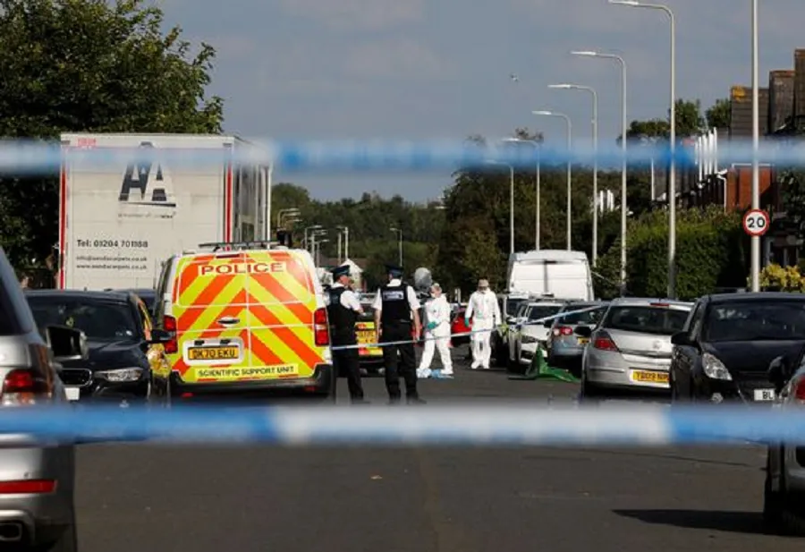
[[[385,401],[381,379],[366,386],[370,399]],[[571,401],[577,393],[573,384],[513,381],[463,367],[453,380],[424,381],[421,389],[429,403],[461,398],[480,408],[512,397]],[[764,462],[759,446],[94,444],[79,453],[80,549],[799,552],[800,540],[762,532]]]

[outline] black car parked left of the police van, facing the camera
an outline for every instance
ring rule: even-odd
[[[75,327],[87,335],[88,360],[63,361],[61,369],[64,385],[80,388],[80,400],[148,398],[148,352],[168,335],[149,330],[148,314],[135,293],[30,290],[25,295],[38,327]],[[151,352],[152,361],[158,354]]]

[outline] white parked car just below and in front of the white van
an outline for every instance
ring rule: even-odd
[[[524,301],[520,305],[513,326],[509,327],[509,368],[524,371],[537,349],[545,345],[548,328],[541,321],[552,317],[567,304],[566,301]]]

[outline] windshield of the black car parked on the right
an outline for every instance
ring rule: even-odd
[[[713,305],[703,334],[707,342],[805,339],[805,301]]]

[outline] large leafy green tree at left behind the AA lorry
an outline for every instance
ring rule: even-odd
[[[0,136],[220,132],[223,101],[206,95],[214,49],[191,55],[182,30],[163,23],[142,0],[0,0]],[[56,241],[55,183],[0,178],[0,242],[18,266]]]

